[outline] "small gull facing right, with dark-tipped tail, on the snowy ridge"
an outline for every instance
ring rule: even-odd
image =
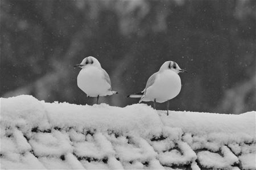
[[[142,92],[127,97],[141,97],[142,101],[154,101],[163,103],[167,101],[167,115],[169,111],[169,100],[176,97],[181,90],[181,80],[178,73],[187,72],[177,65],[174,61],[166,61],[159,71],[150,76],[147,80],[146,88]]]

